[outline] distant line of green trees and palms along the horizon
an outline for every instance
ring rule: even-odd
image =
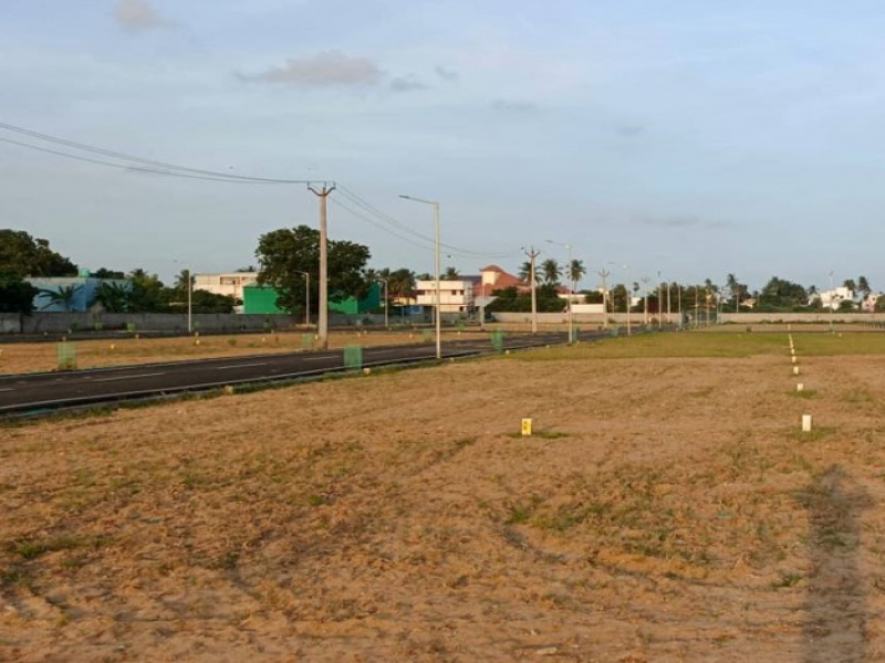
[[[312,313],[319,304],[320,233],[309,225],[283,228],[262,234],[254,252],[258,260],[259,283],[273,287],[278,293],[278,306],[293,314],[303,314],[310,299]],[[384,284],[388,299],[407,301],[415,295],[418,280],[433,280],[430,274],[416,274],[412,270],[372,269],[368,246],[346,240],[329,240],[329,296],[342,299],[347,296],[362,298],[373,284]],[[243,267],[239,271],[252,271]],[[819,311],[820,304],[810,304],[819,295],[815,286],[804,287],[779,276],[772,276],[760,290],[751,291],[735,274],[728,274],[723,284],[717,285],[707,278],[700,284],[652,283],[643,280],[614,284],[604,296],[601,288],[581,290],[579,284],[587,274],[581,260],[571,260],[561,265],[548,259],[532,267],[531,261],[519,265],[517,275],[525,283],[534,272],[538,309],[562,311],[560,297],[563,281],[569,290],[580,293],[587,303],[603,303],[612,312],[626,311],[627,302],[634,309],[649,313],[683,311],[691,307],[730,307],[729,311],[802,312]],[[24,231],[0,229],[0,313],[30,313],[32,302],[40,291],[27,283],[27,277],[76,276],[77,266],[69,257],[53,251],[48,240],[32,238]],[[192,285],[187,270],[177,275],[171,285],[164,284],[156,274],[140,267],[128,272],[102,267],[92,273],[105,278],[95,295],[105,311],[112,313],[176,313],[187,306],[188,284]],[[446,267],[444,280],[458,280],[458,271]],[[865,276],[843,282],[843,286],[868,296],[873,291]],[[76,296],[76,285],[44,292],[48,302],[63,309],[70,308]],[[306,288],[311,288],[306,297]],[[510,287],[493,293],[497,301],[490,311],[530,311],[531,299],[527,288]],[[239,304],[233,297],[216,295],[207,291],[192,290],[191,311],[195,313],[229,313]],[[852,309],[854,301],[840,302],[841,309]],[[876,311],[885,309],[885,297],[876,302]]]

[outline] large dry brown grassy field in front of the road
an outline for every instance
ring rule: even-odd
[[[885,337],[795,344],[6,425],[0,660],[885,660]]]

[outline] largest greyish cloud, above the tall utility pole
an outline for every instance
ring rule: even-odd
[[[376,85],[382,77],[382,71],[368,57],[351,57],[340,51],[324,51],[311,57],[290,57],[283,66],[271,66],[258,74],[239,76],[244,81],[260,83],[329,87]]]

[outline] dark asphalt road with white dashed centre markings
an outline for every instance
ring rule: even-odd
[[[601,336],[602,333],[584,333],[581,339]],[[562,344],[565,340],[566,336],[562,333],[511,335],[504,338],[504,347],[519,349]],[[442,344],[444,358],[491,351],[493,348],[486,336]],[[374,346],[363,348],[362,366],[431,361],[435,357],[434,344]],[[324,350],[0,376],[0,415],[208,390],[228,385],[310,378],[347,368],[353,367],[345,367],[343,350]]]

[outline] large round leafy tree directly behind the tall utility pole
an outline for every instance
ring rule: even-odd
[[[368,294],[371,282],[366,277],[366,263],[372,254],[368,246],[344,240],[329,240],[329,296],[343,299]],[[290,312],[302,309],[305,278],[311,275],[311,291],[319,292],[320,231],[309,225],[273,230],[259,238],[256,257],[260,265],[259,283],[278,292],[277,305]],[[313,295],[313,292],[311,293]],[[311,297],[316,302],[319,297]]]

